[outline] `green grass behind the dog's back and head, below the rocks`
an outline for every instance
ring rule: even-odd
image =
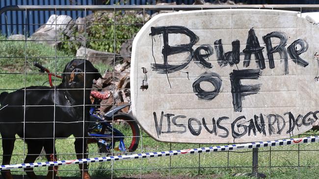
[[[4,41],[0,36],[0,92],[12,91],[25,86],[43,85],[48,81],[46,73],[39,74],[33,62],[47,67],[51,72],[61,73],[74,57],[48,45],[23,41]],[[100,72],[111,69],[108,65],[94,64]],[[54,80],[54,77],[53,77]],[[60,83],[57,79],[56,85]],[[49,86],[49,83],[45,85]]]

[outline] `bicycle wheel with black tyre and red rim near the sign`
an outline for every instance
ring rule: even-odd
[[[134,152],[139,143],[139,128],[138,125],[133,118],[133,116],[119,112],[114,115],[113,121],[110,121],[110,124],[113,126],[114,129],[120,131],[122,134],[124,134],[124,144],[125,144],[125,152]],[[119,141],[118,138],[115,136],[113,138],[108,138],[109,142],[113,142],[114,146],[113,153],[123,153],[123,151],[120,151],[118,149]],[[100,153],[111,153],[110,149],[106,149],[106,146],[98,143],[99,146],[99,152]]]

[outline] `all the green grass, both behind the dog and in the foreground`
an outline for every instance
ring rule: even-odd
[[[0,37],[0,39],[3,37]],[[32,67],[33,61],[38,61],[53,72],[61,72],[64,65],[71,60],[62,51],[46,45],[27,43],[27,58],[25,58],[25,42],[0,42],[0,92],[12,91],[25,86],[42,85],[47,80],[46,74],[37,72]],[[55,56],[55,54],[57,56]],[[29,58],[41,57],[42,58]],[[8,58],[11,57],[11,58]],[[50,58],[49,58],[50,57]],[[27,60],[27,64],[25,63]],[[100,71],[108,68],[104,64],[95,64]],[[27,70],[25,69],[27,67]],[[54,70],[55,69],[55,70]],[[11,74],[3,74],[9,72]],[[27,73],[26,73],[27,72]],[[46,84],[48,85],[48,84]],[[307,134],[319,134],[310,131]],[[18,136],[17,136],[18,137]],[[302,135],[300,135],[302,137]],[[74,138],[56,140],[56,150],[59,160],[75,159]],[[216,146],[219,144],[213,144]],[[0,140],[0,146],[1,140]],[[158,142],[143,132],[139,148],[136,153],[160,152],[211,146],[209,144],[180,144]],[[0,147],[1,148],[1,147]],[[298,149],[300,150],[298,152]],[[286,151],[288,150],[288,151]],[[266,147],[260,149],[259,171],[271,179],[317,179],[319,176],[319,144],[300,144],[281,147]],[[104,157],[97,154],[96,144],[89,145],[89,157]],[[22,139],[17,139],[13,151],[12,164],[23,163],[27,147]],[[0,161],[2,161],[0,150]],[[46,161],[43,156],[37,162]],[[172,176],[202,179],[248,179],[248,177],[232,177],[235,173],[249,173],[252,165],[251,150],[238,150],[234,152],[206,153],[199,155],[183,155],[174,157],[143,158],[104,163],[91,163],[89,172],[97,178],[102,177],[130,177],[140,174],[156,174],[158,178]],[[271,167],[270,167],[271,163]],[[301,167],[298,167],[301,166]],[[35,168],[37,175],[46,175],[47,168]],[[16,175],[22,175],[22,170],[14,170]],[[60,166],[58,175],[61,177],[80,176],[78,165]]]

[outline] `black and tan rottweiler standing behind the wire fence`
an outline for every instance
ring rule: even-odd
[[[34,162],[43,147],[47,159],[52,160],[50,156],[55,154],[55,139],[72,134],[76,138],[77,158],[86,158],[84,120],[89,118],[89,106],[86,105],[91,104],[93,79],[97,80],[101,74],[89,61],[74,59],[65,66],[62,76],[62,83],[53,88],[33,86],[0,94],[2,165],[10,164],[16,134],[27,143],[25,163]],[[86,164],[80,165],[80,170],[84,179],[90,178]],[[33,168],[25,171],[30,179],[36,179]],[[9,170],[3,170],[1,174],[4,179],[12,179]],[[47,178],[52,179],[53,176],[53,167],[49,167]]]

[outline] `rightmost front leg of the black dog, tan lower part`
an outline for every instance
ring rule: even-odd
[[[87,154],[84,153],[84,150],[86,149],[87,143],[86,143],[86,139],[82,138],[76,138],[75,142],[74,142],[74,146],[75,146],[75,152],[77,153],[77,158],[87,158]],[[80,171],[81,171],[81,175],[82,175],[82,179],[90,179],[90,175],[87,171],[87,164],[79,164],[80,167]]]

